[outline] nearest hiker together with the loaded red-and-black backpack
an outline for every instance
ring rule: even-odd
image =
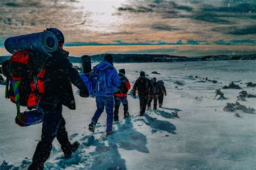
[[[40,44],[41,38],[45,38],[45,44]],[[23,39],[25,41],[21,41]],[[5,42],[5,48],[12,52],[16,41],[9,39]],[[19,44],[16,47],[22,49],[15,52],[8,62],[4,62],[6,80],[10,81],[10,88],[6,86],[6,97],[16,103],[17,124],[28,126],[43,122],[41,141],[37,144],[28,169],[44,169],[55,137],[65,157],[69,157],[79,147],[78,141],[70,143],[62,116],[62,105],[71,110],[76,109],[71,83],[80,89],[81,97],[88,97],[89,92],[77,70],[72,68],[69,52],[63,50],[64,36],[58,29],[50,28],[42,33],[19,36],[17,42]],[[47,46],[45,49],[48,51],[44,50],[43,45]],[[55,45],[56,48],[50,51]],[[20,105],[34,110],[21,113]],[[26,116],[37,119],[31,122]]]

